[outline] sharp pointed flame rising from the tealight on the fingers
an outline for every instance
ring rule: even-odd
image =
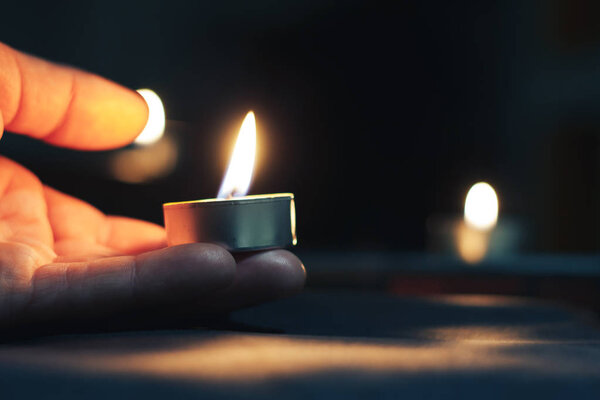
[[[249,111],[242,122],[227,172],[221,183],[221,189],[217,198],[227,199],[231,197],[245,196],[248,193],[252,172],[254,170],[254,158],[256,156],[256,121],[254,113]]]

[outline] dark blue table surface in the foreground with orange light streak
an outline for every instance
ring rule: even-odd
[[[600,398],[597,315],[518,297],[309,290],[210,326],[0,344],[10,398]]]

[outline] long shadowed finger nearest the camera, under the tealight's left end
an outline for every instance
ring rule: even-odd
[[[211,244],[187,244],[91,262],[53,263],[33,278],[27,314],[34,319],[90,316],[140,306],[191,304],[228,287],[235,260]]]

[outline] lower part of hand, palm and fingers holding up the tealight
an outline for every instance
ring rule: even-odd
[[[304,281],[288,252],[258,253],[236,267],[214,245],[164,246],[162,227],[106,216],[0,158],[0,322],[167,297],[229,309],[294,292]]]

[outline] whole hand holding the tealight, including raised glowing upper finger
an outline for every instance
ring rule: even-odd
[[[0,132],[102,150],[132,142],[147,116],[134,91],[0,43]],[[161,226],[104,215],[0,157],[2,326],[165,306],[223,312],[297,293],[304,281],[288,251],[166,247]]]

